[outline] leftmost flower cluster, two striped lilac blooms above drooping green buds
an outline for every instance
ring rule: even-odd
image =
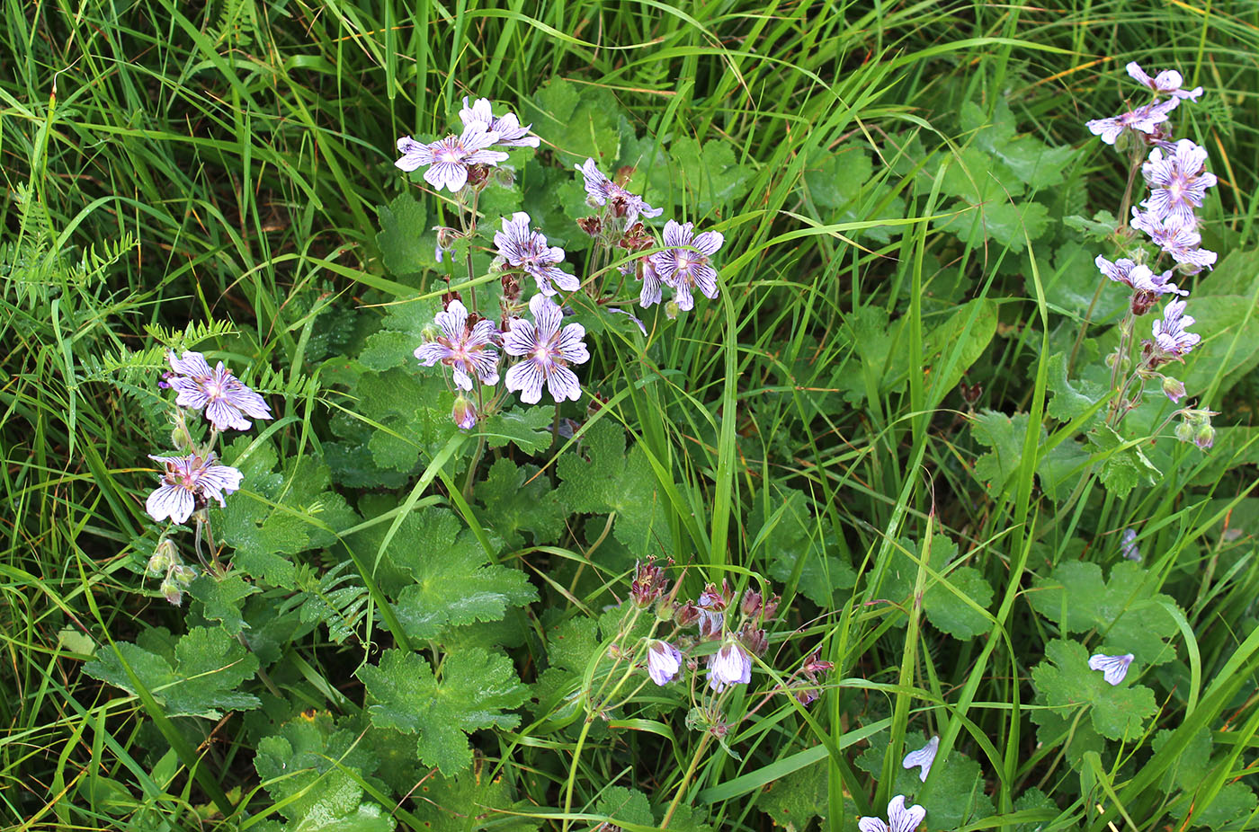
[[[213,500],[225,506],[224,496],[240,488],[243,475],[232,466],[220,464],[214,452],[219,434],[224,430],[248,430],[253,427],[246,417],[271,419],[271,407],[251,390],[243,381],[228,370],[222,361],[213,369],[200,352],[185,351],[183,355],[167,352],[170,371],[162,375],[157,386],[174,389],[175,430],[174,443],[189,451],[184,456],[156,456],[149,458],[162,467],[159,486],[145,501],[145,511],[154,520],[170,520],[184,524],[196,516],[196,554],[200,556],[203,526],[208,524],[205,509]],[[188,410],[204,412],[210,423],[210,433],[203,444],[193,439],[188,428]],[[184,565],[175,544],[167,539],[157,544],[149,559],[149,571],[165,575],[161,593],[172,604],[179,604],[183,593],[196,578],[196,569]]]

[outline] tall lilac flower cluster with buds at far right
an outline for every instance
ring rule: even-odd
[[[1139,206],[1132,208],[1129,227],[1144,233],[1158,250],[1152,253],[1129,234],[1124,238],[1132,249],[1129,257],[1112,262],[1098,256],[1095,261],[1102,274],[1131,292],[1129,315],[1121,325],[1119,347],[1108,359],[1113,386],[1118,386],[1119,371],[1128,363],[1133,320],[1149,312],[1165,296],[1171,298],[1163,307],[1162,317],[1151,326],[1152,337],[1141,344],[1139,365],[1119,388],[1119,395],[1110,409],[1110,418],[1115,420],[1137,407],[1147,381],[1157,380],[1167,398],[1176,404],[1185,395],[1185,385],[1165,375],[1160,368],[1182,361],[1197,346],[1201,336],[1188,331],[1194,325],[1194,317],[1185,313],[1183,298],[1188,291],[1172,282],[1172,277],[1176,272],[1197,274],[1204,268],[1210,268],[1217,257],[1215,252],[1201,247],[1200,219],[1196,213],[1202,206],[1206,190],[1216,184],[1216,177],[1206,170],[1206,150],[1187,138],[1173,140],[1168,121],[1168,113],[1182,101],[1201,97],[1202,88],[1182,89],[1183,78],[1175,69],[1160,72],[1155,77],[1136,63],[1129,63],[1127,69],[1134,81],[1153,93],[1152,99],[1121,116],[1090,121],[1088,127],[1102,141],[1131,150],[1133,177],[1139,164],[1149,190]],[[1144,156],[1147,151],[1148,156]],[[1132,181],[1129,193],[1131,186]],[[1127,206],[1123,210],[1126,209]],[[1163,258],[1171,262],[1160,267]],[[1136,391],[1129,396],[1131,389]]]

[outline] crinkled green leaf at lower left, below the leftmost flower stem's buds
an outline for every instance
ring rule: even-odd
[[[219,627],[191,628],[171,658],[127,642],[118,642],[117,649],[167,716],[219,719],[223,711],[259,705],[256,696],[239,692],[257,672],[258,660]],[[122,660],[112,649],[99,649],[83,672],[135,694]]]

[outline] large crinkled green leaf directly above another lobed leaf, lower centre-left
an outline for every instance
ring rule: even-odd
[[[448,509],[409,515],[389,553],[415,582],[394,605],[410,638],[432,639],[458,624],[497,621],[507,607],[536,598],[525,573],[488,564],[485,550]]]

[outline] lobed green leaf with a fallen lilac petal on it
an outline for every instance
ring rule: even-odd
[[[1037,695],[1051,707],[1074,714],[1071,706],[1090,705],[1093,728],[1112,740],[1141,736],[1144,720],[1158,712],[1148,687],[1129,680],[1110,685],[1099,671],[1089,670],[1089,652],[1079,642],[1060,638],[1049,642],[1045,661],[1032,668],[1031,677]]]

